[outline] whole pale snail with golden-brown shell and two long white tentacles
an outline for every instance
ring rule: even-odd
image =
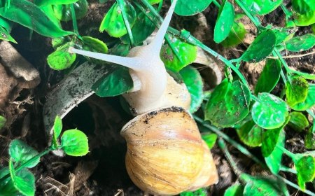
[[[130,68],[134,88],[123,96],[137,116],[120,132],[127,141],[126,169],[141,190],[154,195],[176,195],[218,181],[209,148],[188,112],[187,87],[169,76],[160,59],[175,4],[176,0],[153,41],[132,48],[127,57],[69,48]]]

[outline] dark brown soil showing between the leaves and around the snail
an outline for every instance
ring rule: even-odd
[[[100,38],[108,43],[109,47],[115,43],[116,39],[105,33],[100,34],[98,31],[98,25],[112,3],[113,1],[103,4],[98,3],[98,1],[90,1],[90,10],[87,16],[83,20],[78,21],[80,34],[88,34]],[[217,13],[213,10],[217,9],[211,4],[204,11],[203,15],[186,18],[185,22],[181,22],[183,20],[179,18],[179,20],[173,20],[175,21],[173,25],[178,29],[190,29],[195,36],[200,36],[201,41],[204,41],[204,43],[207,43],[207,45],[225,55],[225,57],[239,57],[241,54],[239,51],[246,50],[247,43],[230,50],[225,50],[214,43],[211,35],[213,34]],[[277,21],[283,21],[282,19],[283,15],[279,15],[275,11],[264,18],[263,21],[281,25]],[[204,28],[208,28],[211,35],[204,34],[203,30],[195,28],[193,25],[187,25],[187,21],[196,20],[201,22],[198,24],[206,22],[207,27],[205,26]],[[195,24],[196,22],[191,23]],[[63,25],[71,29],[71,22]],[[248,25],[248,28],[250,34],[254,36],[255,30],[251,29],[253,27]],[[302,28],[298,34],[307,32],[309,32],[309,29]],[[46,62],[46,57],[53,51],[50,38],[45,38],[34,32],[31,40],[29,40],[29,30],[19,25],[13,28],[12,36],[18,41],[18,44],[13,44],[13,46],[20,52],[22,57],[25,57],[38,70],[41,83],[34,88],[21,90],[15,99],[15,102],[20,104],[7,105],[10,108],[10,115],[12,115],[12,123],[0,132],[0,167],[8,164],[7,149],[12,139],[25,140],[27,144],[38,151],[43,151],[47,146],[48,135],[43,126],[43,104],[45,104],[45,97],[48,92],[66,74],[62,71],[53,71]],[[293,54],[288,53],[286,55]],[[288,64],[300,71],[315,73],[314,58],[315,55],[290,58],[288,59]],[[251,86],[253,86],[257,82],[260,71],[259,69],[250,69],[250,67],[248,64],[241,66],[241,71],[251,83]],[[14,79],[11,78],[11,80]],[[279,83],[274,93],[279,94],[282,87],[283,84]],[[10,89],[7,91],[6,93],[9,94]],[[4,112],[0,111],[0,114]],[[125,140],[120,136],[120,129],[131,119],[132,116],[120,105],[119,97],[100,98],[93,95],[79,104],[64,118],[64,130],[77,127],[78,130],[85,132],[89,138],[90,153],[82,158],[58,157],[52,153],[43,156],[38,166],[31,169],[31,172],[36,176],[36,195],[144,195],[143,191],[134,186],[125,169],[125,151],[127,147]],[[224,132],[232,139],[239,141],[234,130],[224,130]],[[297,153],[303,152],[304,134],[295,133],[291,130],[287,130],[287,132],[289,134],[286,148]],[[242,171],[248,174],[265,174],[258,165],[255,165],[253,161],[239,153],[235,148],[229,146],[229,150],[233,158],[237,160]],[[232,172],[230,165],[225,160],[218,146],[214,146],[211,152],[218,167],[220,180],[216,186],[209,188],[209,195],[223,195],[225,189],[235,183],[237,177]],[[255,155],[260,155],[259,148],[253,148],[251,152]],[[283,164],[290,166],[292,162],[289,158],[284,158]],[[281,175],[296,183],[294,175],[288,175],[287,173]],[[290,195],[303,195],[295,189],[288,188]],[[314,191],[314,188],[309,184],[307,188]]]

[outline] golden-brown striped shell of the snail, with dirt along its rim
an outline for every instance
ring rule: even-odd
[[[213,178],[207,176],[197,181],[202,176],[200,172],[204,173],[204,157],[209,161],[211,154],[206,145],[205,155],[195,121],[180,107],[137,116],[120,133],[127,141],[127,172],[141,190],[155,195],[176,195],[204,186]]]

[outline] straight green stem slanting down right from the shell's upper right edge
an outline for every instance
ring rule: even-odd
[[[209,125],[209,123],[204,122],[204,120],[202,120],[201,118],[199,118],[199,117],[197,117],[195,115],[193,115],[193,117],[202,126],[206,127],[207,129],[211,130],[212,132],[218,134],[219,137],[222,137],[223,139],[225,139],[225,141],[228,141],[228,143],[230,143],[232,146],[237,148],[237,150],[239,150],[241,153],[243,153],[244,155],[248,156],[248,158],[251,158],[253,161],[257,162],[263,168],[267,169],[266,165],[263,162],[261,162],[258,158],[255,157],[255,155],[253,155],[246,148],[244,148],[244,146],[241,146],[241,144],[237,143],[237,141],[235,141],[233,139],[230,139],[230,137],[228,137],[228,135],[226,135],[223,132],[221,132],[221,130],[218,130],[218,128]]]

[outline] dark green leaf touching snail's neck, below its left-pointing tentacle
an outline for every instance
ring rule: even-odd
[[[108,74],[102,76],[92,85],[92,90],[99,97],[113,97],[132,89],[134,82],[128,69],[119,66]]]

